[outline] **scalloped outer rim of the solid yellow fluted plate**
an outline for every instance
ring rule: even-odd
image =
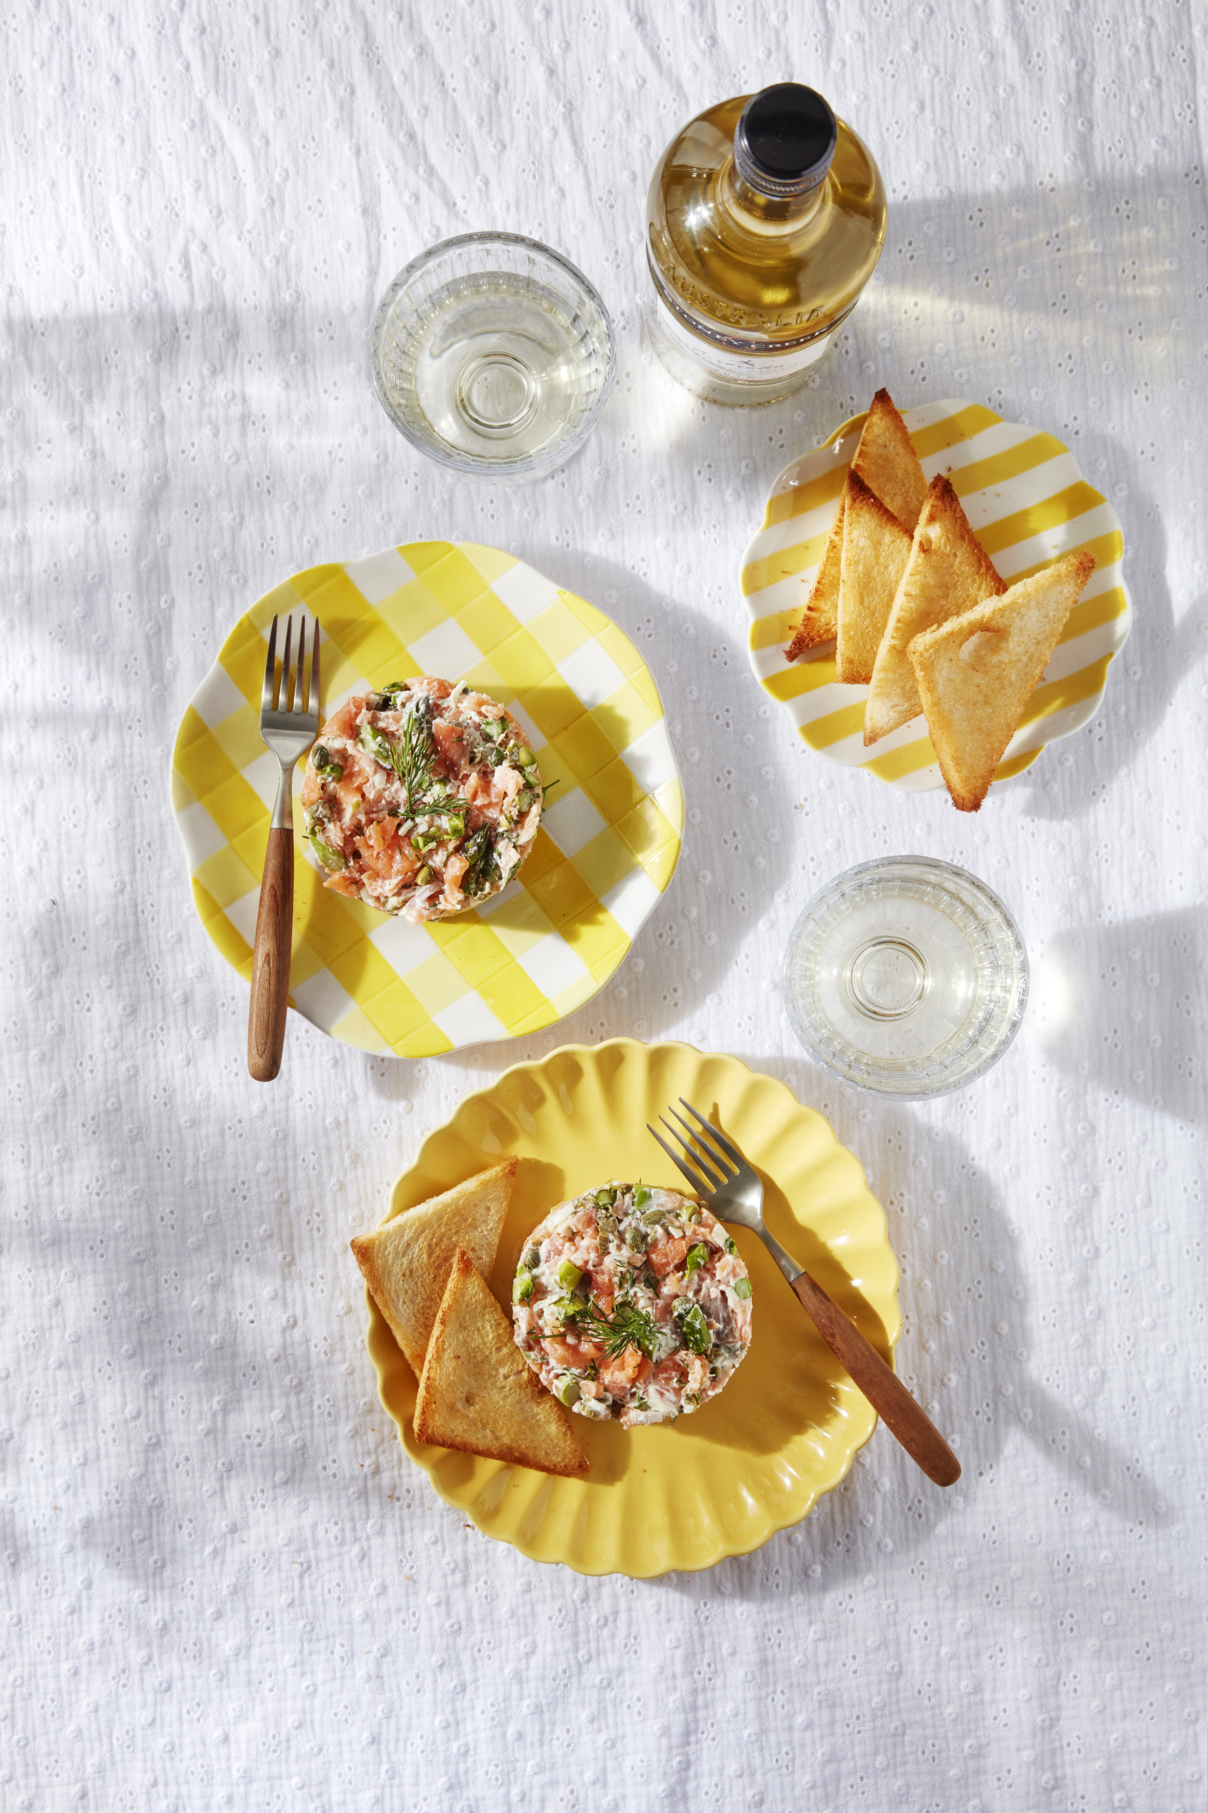
[[[436,1139],[440,1133],[449,1131],[455,1126],[458,1115],[467,1106],[471,1106],[476,1100],[489,1099],[500,1088],[500,1084],[507,1077],[514,1075],[516,1071],[542,1071],[542,1070],[545,1070],[545,1066],[552,1064],[556,1059],[561,1059],[561,1057],[567,1057],[567,1055],[574,1055],[580,1061],[583,1061],[583,1059],[596,1061],[598,1053],[603,1053],[603,1052],[609,1052],[609,1050],[618,1050],[618,1048],[625,1050],[627,1061],[628,1061],[628,1053],[632,1053],[632,1052],[636,1052],[636,1053],[652,1053],[656,1050],[674,1050],[674,1052],[688,1053],[695,1061],[706,1061],[706,1059],[723,1061],[724,1064],[735,1066],[739,1071],[744,1071],[748,1077],[752,1077],[757,1082],[770,1084],[770,1086],[773,1086],[777,1090],[782,1090],[793,1100],[793,1104],[795,1104],[795,1108],[799,1111],[815,1115],[822,1122],[822,1126],[826,1128],[826,1131],[829,1135],[831,1144],[839,1151],[846,1153],[853,1160],[853,1164],[858,1168],[860,1178],[862,1178],[862,1184],[864,1184],[864,1191],[866,1191],[869,1202],[875,1204],[877,1215],[880,1218],[878,1231],[877,1231],[877,1244],[880,1247],[884,1247],[886,1255],[889,1256],[891,1269],[893,1269],[893,1284],[891,1284],[891,1289],[889,1289],[889,1294],[887,1294],[887,1304],[891,1307],[891,1316],[886,1322],[886,1338],[887,1338],[887,1343],[889,1343],[889,1365],[896,1371],[895,1358],[896,1358],[898,1342],[902,1340],[902,1333],[904,1333],[904,1316],[902,1316],[902,1302],[900,1302],[902,1265],[900,1265],[898,1255],[896,1255],[896,1251],[893,1247],[893,1242],[889,1238],[889,1217],[886,1215],[886,1206],[882,1204],[880,1197],[877,1197],[873,1193],[873,1189],[871,1189],[871,1186],[868,1182],[868,1171],[864,1169],[864,1162],[860,1160],[860,1157],[849,1146],[846,1146],[839,1139],[839,1135],[837,1135],[837,1131],[833,1128],[833,1122],[828,1119],[828,1115],[824,1115],[819,1108],[811,1108],[808,1102],[802,1102],[797,1097],[797,1093],[793,1090],[790,1090],[790,1086],[781,1077],[768,1075],[768,1071],[762,1071],[762,1070],[753,1070],[752,1064],[748,1064],[744,1059],[737,1057],[732,1052],[703,1052],[699,1046],[690,1044],[685,1039],[645,1041],[645,1039],[632,1039],[632,1037],[621,1033],[621,1035],[618,1035],[614,1039],[603,1039],[598,1044],[578,1044],[578,1042],[576,1044],[560,1044],[552,1052],[549,1052],[543,1059],[522,1059],[516,1064],[509,1064],[507,1070],[500,1071],[500,1075],[491,1084],[487,1084],[485,1088],[480,1088],[480,1090],[471,1090],[467,1095],[460,1097],[460,1100],[456,1102],[453,1113],[447,1115],[438,1126],[433,1126],[433,1128],[429,1128],[424,1133],[424,1137],[420,1139],[420,1144],[417,1148],[413,1162],[406,1169],[402,1169],[398,1173],[398,1177],[395,1178],[395,1182],[391,1184],[388,1211],[386,1211],[386,1215],[382,1217],[382,1220],[377,1226],[382,1227],[388,1222],[395,1220],[397,1215],[404,1215],[406,1213],[404,1207],[395,1207],[395,1202],[397,1202],[397,1197],[398,1197],[398,1191],[400,1191],[402,1184],[406,1182],[407,1177],[411,1177],[418,1169],[420,1157],[422,1157],[424,1149],[429,1146],[429,1142],[433,1139]],[[612,1575],[623,1575],[627,1579],[659,1579],[665,1574],[699,1574],[699,1572],[705,1572],[706,1568],[717,1566],[719,1561],[728,1561],[728,1559],[735,1559],[739,1556],[755,1554],[768,1541],[772,1541],[773,1536],[779,1536],[784,1530],[797,1528],[801,1523],[804,1523],[806,1517],[817,1507],[819,1499],[826,1498],[829,1492],[833,1492],[837,1487],[842,1485],[842,1481],[848,1478],[848,1474],[851,1472],[851,1469],[855,1465],[857,1454],[860,1452],[860,1449],[864,1449],[871,1441],[873,1434],[877,1432],[877,1429],[880,1425],[880,1418],[877,1416],[877,1412],[869,1405],[871,1420],[869,1420],[868,1430],[862,1436],[858,1436],[858,1440],[853,1440],[846,1447],[840,1445],[837,1449],[837,1461],[839,1461],[839,1465],[837,1465],[837,1470],[835,1470],[833,1478],[829,1479],[829,1483],[813,1488],[810,1492],[810,1498],[808,1498],[808,1503],[804,1505],[804,1508],[801,1508],[799,1512],[795,1512],[791,1516],[786,1516],[782,1521],[777,1521],[775,1516],[770,1514],[764,1532],[762,1534],[755,1534],[752,1537],[752,1541],[748,1541],[748,1543],[744,1543],[744,1541],[726,1543],[724,1537],[723,1537],[721,1543],[719,1543],[719,1546],[717,1546],[717,1552],[712,1554],[708,1559],[690,1561],[690,1563],[668,1561],[665,1566],[656,1566],[656,1568],[650,1568],[647,1572],[636,1572],[636,1570],[630,1572],[628,1568],[623,1568],[623,1566],[599,1566],[599,1568],[592,1568],[592,1566],[587,1566],[587,1565],[583,1565],[580,1561],[567,1559],[563,1556],[534,1554],[532,1548],[531,1548],[531,1545],[525,1545],[522,1539],[516,1539],[513,1536],[503,1536],[498,1530],[487,1528],[480,1521],[480,1517],[476,1514],[476,1505],[475,1503],[465,1505],[465,1503],[462,1503],[460,1499],[453,1498],[449,1492],[446,1492],[442,1488],[440,1481],[436,1479],[435,1469],[431,1469],[426,1463],[426,1459],[422,1458],[420,1450],[426,1450],[426,1452],[446,1452],[446,1450],[444,1449],[438,1449],[438,1450],[433,1449],[433,1450],[429,1450],[426,1443],[420,1443],[420,1441],[415,1440],[411,1418],[407,1418],[406,1421],[400,1421],[398,1416],[395,1414],[395,1411],[393,1411],[393,1407],[389,1403],[389,1398],[388,1398],[388,1372],[386,1372],[384,1363],[380,1363],[380,1360],[379,1360],[379,1351],[382,1349],[384,1343],[388,1343],[388,1351],[389,1351],[389,1347],[393,1347],[395,1352],[397,1352],[397,1356],[398,1356],[398,1360],[402,1360],[404,1367],[406,1367],[406,1358],[398,1352],[397,1342],[395,1342],[393,1334],[389,1333],[389,1327],[386,1325],[386,1318],[382,1316],[380,1309],[377,1307],[377,1304],[373,1300],[373,1294],[368,1289],[368,1285],[366,1285],[366,1291],[364,1291],[364,1300],[366,1300],[366,1311],[368,1311],[368,1316],[369,1316],[369,1327],[366,1331],[366,1351],[369,1354],[369,1362],[371,1362],[375,1376],[377,1376],[379,1400],[382,1403],[382,1409],[386,1411],[386,1414],[389,1416],[389,1420],[395,1425],[400,1449],[404,1450],[404,1454],[407,1456],[407,1459],[413,1465],[417,1465],[426,1474],[426,1478],[427,1478],[429,1485],[433,1487],[433,1490],[436,1492],[436,1496],[446,1505],[451,1505],[455,1510],[460,1510],[465,1517],[469,1517],[473,1521],[475,1528],[480,1530],[480,1534],[491,1537],[491,1541],[498,1541],[498,1543],[503,1543],[509,1548],[514,1548],[527,1561],[538,1561],[543,1566],[565,1566],[565,1568],[570,1568],[570,1572],[581,1574],[583,1577],[589,1577],[589,1579],[603,1579],[603,1577],[612,1577]],[[878,1314],[880,1314],[880,1309],[878,1309]],[[409,1372],[409,1367],[407,1367],[407,1372]],[[415,1378],[415,1374],[411,1374],[411,1378]],[[587,1485],[589,1481],[581,1481],[581,1483]],[[478,1496],[482,1496],[482,1494],[478,1494]]]

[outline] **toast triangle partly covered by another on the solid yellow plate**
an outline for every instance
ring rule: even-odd
[[[350,1242],[417,1378],[456,1249],[465,1247],[480,1271],[494,1265],[514,1175],[516,1160],[507,1159]]]

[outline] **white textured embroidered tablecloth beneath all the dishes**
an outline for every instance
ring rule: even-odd
[[[14,1809],[1204,1806],[1204,9],[14,0],[4,22],[4,1579]],[[643,194],[699,107],[817,83],[886,174],[875,285],[795,399],[643,344]],[[444,479],[368,328],[426,243],[551,241],[616,388],[554,479]],[[768,484],[878,384],[1050,430],[1125,522],[1098,718],[976,818],[802,751],[746,665]],[[556,1035],[380,1062],[246,988],[168,810],[185,703],[290,571],[469,537],[647,654],[679,876]],[[918,850],[1014,908],[1034,1001],[965,1093],[839,1088],[779,997],[837,870]],[[648,1585],[446,1508],[364,1352],[348,1236],[471,1086],[609,1033],[733,1050],[831,1117],[902,1260],[878,1430],[759,1554]]]

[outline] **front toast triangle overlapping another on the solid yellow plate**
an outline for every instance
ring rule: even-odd
[[[455,1253],[415,1400],[415,1434],[513,1467],[578,1479],[587,1456],[540,1385],[513,1325],[467,1253]]]

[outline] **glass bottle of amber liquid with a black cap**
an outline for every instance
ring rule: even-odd
[[[826,150],[813,172],[793,174],[791,147],[777,149],[782,114],[768,109],[784,94],[790,109],[810,96],[831,123],[820,176]],[[743,127],[735,143],[759,107],[768,131],[748,141]],[[860,299],[886,239],[886,192],[851,127],[813,91],[786,83],[721,102],[672,140],[650,181],[647,225],[648,319],[663,363],[710,401],[768,402],[806,381]]]

